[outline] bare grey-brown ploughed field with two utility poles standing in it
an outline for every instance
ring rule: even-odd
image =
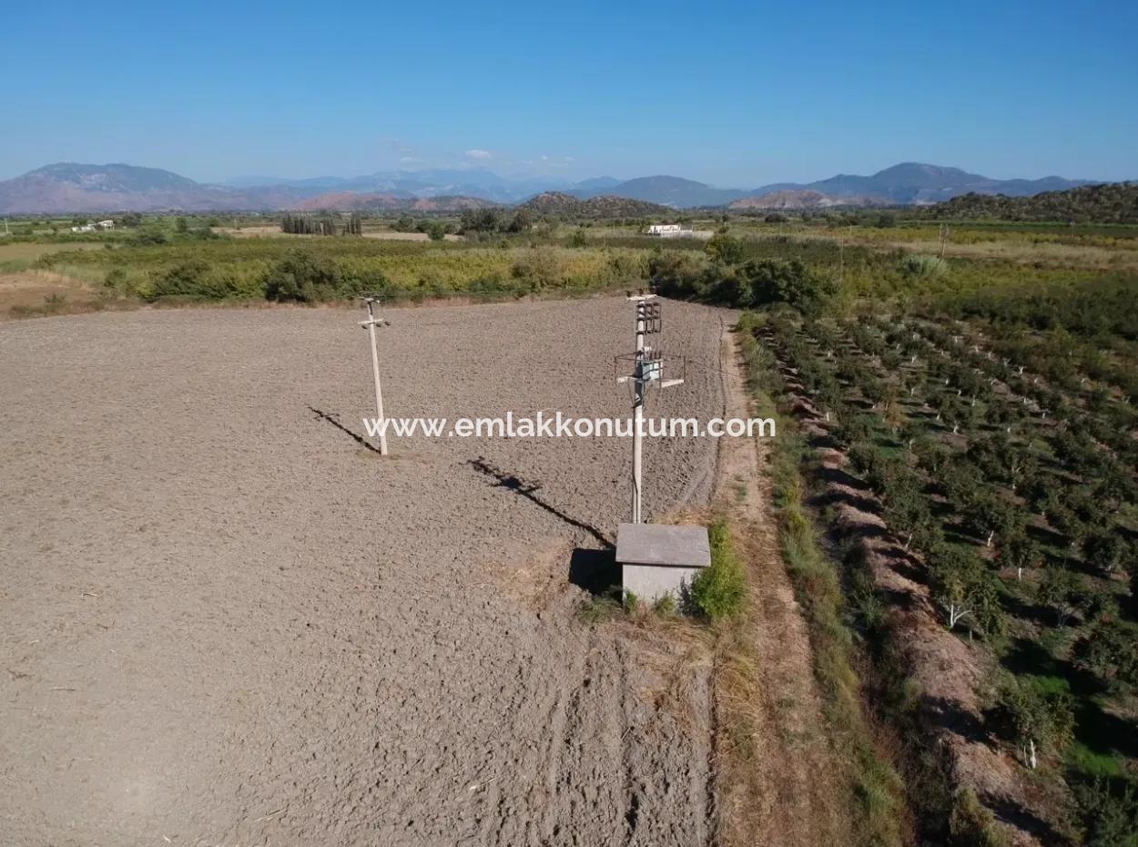
[[[390,414],[626,412],[622,299],[389,314]],[[0,324],[0,842],[707,840],[706,669],[662,696],[682,657],[566,583],[627,512],[627,443],[385,461],[313,411],[370,412],[357,318]],[[667,348],[718,367],[720,318],[668,303]],[[687,378],[651,413],[721,413]],[[645,461],[659,515],[706,499],[715,443]]]

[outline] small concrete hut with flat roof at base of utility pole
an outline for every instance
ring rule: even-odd
[[[617,565],[626,592],[655,602],[665,594],[684,599],[692,579],[711,564],[707,527],[621,524]]]

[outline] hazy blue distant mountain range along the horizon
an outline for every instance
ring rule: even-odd
[[[904,163],[872,176],[839,174],[809,183],[716,188],[679,176],[575,183],[511,180],[485,168],[394,171],[368,176],[290,180],[242,176],[207,184],[135,165],[59,163],[0,182],[0,214],[98,212],[226,212],[281,209],[450,212],[514,205],[558,191],[578,200],[619,197],[669,208],[818,208],[834,205],[930,205],[965,194],[1030,197],[1090,184],[1087,180],[993,180],[957,167]],[[562,204],[563,205],[563,204]]]

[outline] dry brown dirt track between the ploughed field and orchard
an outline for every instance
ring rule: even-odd
[[[723,342],[723,379],[728,417],[752,409],[734,339]],[[717,783],[719,829],[725,845],[769,844],[820,847],[843,844],[846,797],[843,765],[830,746],[822,697],[814,677],[809,631],[778,546],[764,439],[724,439],[719,451],[717,502],[732,515],[737,552],[748,562],[750,639],[747,649],[757,679],[745,702],[726,701],[729,714],[750,724],[751,755],[732,764],[720,756]],[[720,676],[721,679],[721,676]],[[720,684],[720,698],[736,691]],[[739,740],[724,735],[717,746]]]

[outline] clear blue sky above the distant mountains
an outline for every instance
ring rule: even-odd
[[[0,179],[1138,178],[1138,3],[9,3]]]

